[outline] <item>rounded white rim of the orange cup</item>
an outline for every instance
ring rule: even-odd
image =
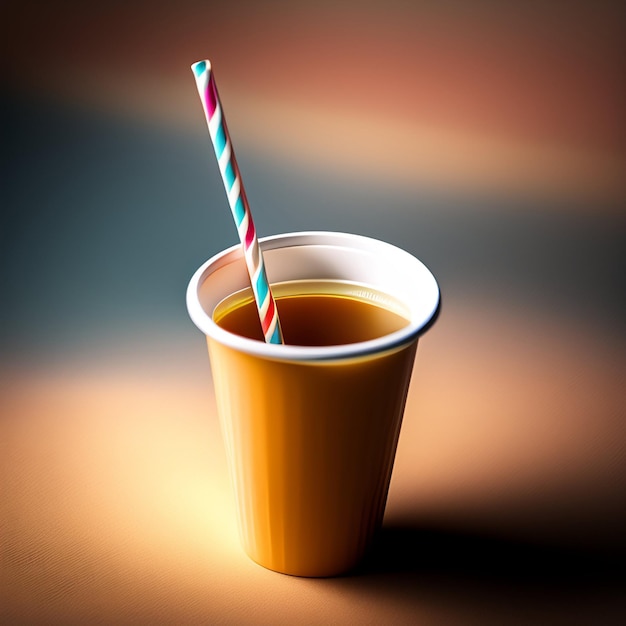
[[[205,311],[199,298],[200,288],[208,276],[221,267],[243,259],[242,246],[236,244],[218,252],[195,271],[187,286],[186,302],[191,320],[207,337],[237,351],[279,361],[315,362],[360,358],[397,350],[412,343],[434,324],[439,315],[441,294],[432,272],[415,256],[393,244],[364,235],[332,231],[300,231],[270,235],[260,238],[259,244],[264,252],[283,247],[325,244],[365,250],[371,250],[372,247],[376,246],[382,246],[388,250],[393,249],[395,253],[407,255],[413,263],[421,266],[420,271],[429,283],[428,297],[431,302],[420,318],[411,319],[407,326],[396,332],[368,341],[332,346],[294,346],[270,344],[242,337],[223,329],[214,322],[212,313],[209,314]]]

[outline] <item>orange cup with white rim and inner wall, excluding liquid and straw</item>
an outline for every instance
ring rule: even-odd
[[[241,246],[207,261],[189,283],[246,552],[282,573],[337,575],[357,564],[382,522],[417,340],[435,319],[439,289],[415,257],[375,239],[308,232],[260,243],[273,285],[347,281],[406,311],[404,328],[369,341],[266,344],[212,318],[250,285]]]

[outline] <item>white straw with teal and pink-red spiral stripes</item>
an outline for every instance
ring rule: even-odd
[[[263,335],[267,343],[283,343],[282,331],[278,320],[276,303],[272,296],[267,275],[265,273],[265,263],[263,254],[259,246],[259,241],[252,221],[252,213],[248,206],[246,192],[243,188],[239,167],[235,160],[235,152],[230,141],[226,120],[222,112],[220,98],[217,94],[215,79],[211,71],[211,62],[208,60],[198,61],[191,66],[198,93],[204,108],[209,134],[215,149],[215,156],[220,167],[228,203],[230,204],[239,239],[244,249],[248,274],[250,274],[250,284],[256,301]]]

